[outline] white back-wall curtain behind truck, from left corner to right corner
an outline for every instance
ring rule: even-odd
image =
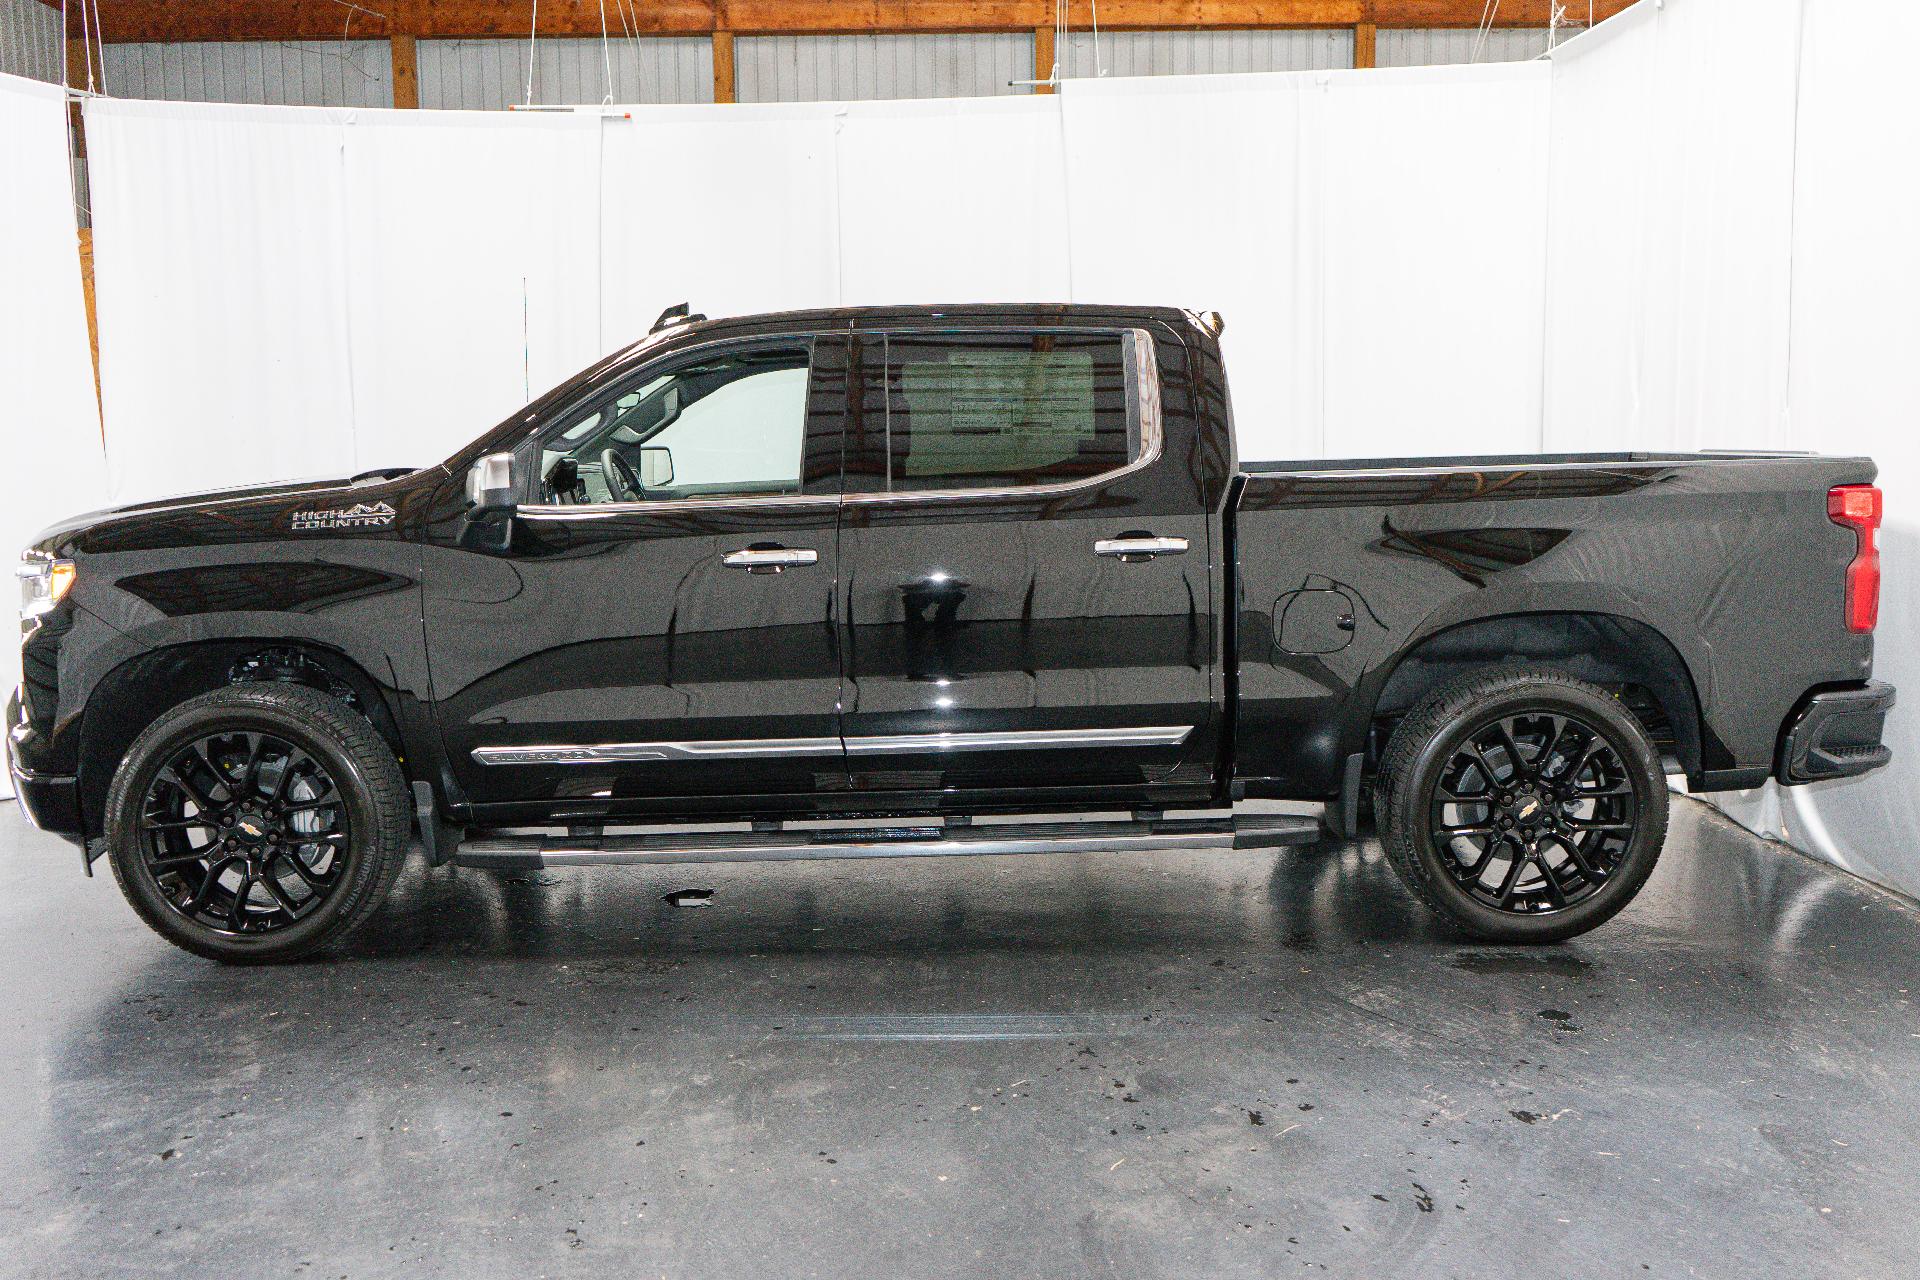
[[[1532,449],[1548,94],[1523,63],[566,115],[92,100],[111,493],[440,459],[676,301],[1212,307],[1248,457]]]

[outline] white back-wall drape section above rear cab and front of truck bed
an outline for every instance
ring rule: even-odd
[[[1540,447],[1544,63],[1062,100],[1075,301],[1221,311],[1242,457]]]

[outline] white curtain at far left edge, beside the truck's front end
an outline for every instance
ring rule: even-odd
[[[58,84],[0,75],[0,547],[102,505],[106,461],[81,301],[81,244]],[[13,583],[8,581],[8,591]],[[12,606],[8,608],[12,612]],[[0,697],[19,685],[19,643],[0,643]],[[0,796],[13,779],[0,770]]]

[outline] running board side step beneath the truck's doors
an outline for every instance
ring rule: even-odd
[[[1283,848],[1323,841],[1317,818],[1156,818],[1148,821],[1037,821],[973,825],[837,827],[801,831],[697,831],[628,837],[480,837],[453,854],[463,867],[541,869],[685,862],[797,862],[810,858],[943,858],[1092,854],[1162,848]]]

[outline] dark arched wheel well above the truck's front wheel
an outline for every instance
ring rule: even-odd
[[[346,654],[280,641],[204,641],[169,645],[113,668],[86,704],[81,733],[81,819],[100,835],[108,789],[127,748],[180,702],[248,683],[290,683],[346,702],[369,722],[405,770],[405,750],[380,687]]]

